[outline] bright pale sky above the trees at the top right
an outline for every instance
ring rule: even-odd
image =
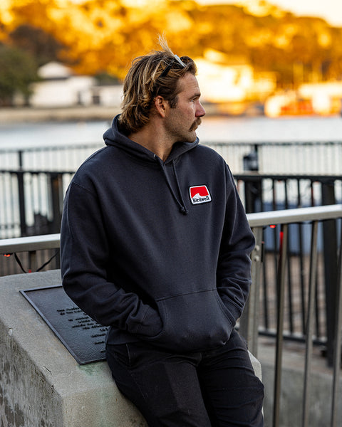
[[[250,1],[250,0],[249,0]],[[319,16],[332,26],[342,27],[342,0],[267,0],[295,15]],[[242,1],[241,1],[242,2]],[[202,4],[237,4],[239,0],[197,0]]]

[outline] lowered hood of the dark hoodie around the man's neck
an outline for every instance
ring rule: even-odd
[[[118,118],[120,115],[114,117],[111,127],[105,131],[103,134],[103,139],[106,145],[113,145],[120,149],[123,149],[125,152],[128,152],[130,155],[140,159],[142,162],[150,162],[152,164],[156,163],[156,155],[151,152],[149,149],[142,147],[142,145],[137,142],[132,141],[126,137],[123,133],[120,132],[118,128]],[[172,147],[170,156],[167,157],[166,161],[163,162],[165,165],[170,164],[180,157],[185,152],[194,149],[199,144],[199,139],[196,138],[194,142],[176,142]]]

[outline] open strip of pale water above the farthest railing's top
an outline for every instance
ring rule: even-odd
[[[108,121],[0,124],[0,149],[102,142]],[[204,117],[201,142],[342,141],[342,117]]]

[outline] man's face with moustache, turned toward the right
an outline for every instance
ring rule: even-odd
[[[194,142],[196,130],[205,110],[199,102],[201,95],[197,78],[191,73],[178,80],[180,93],[175,108],[170,108],[165,117],[165,130],[173,142]]]

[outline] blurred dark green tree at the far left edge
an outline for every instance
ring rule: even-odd
[[[15,93],[28,100],[30,84],[38,80],[34,58],[19,48],[0,45],[0,105],[13,104]]]

